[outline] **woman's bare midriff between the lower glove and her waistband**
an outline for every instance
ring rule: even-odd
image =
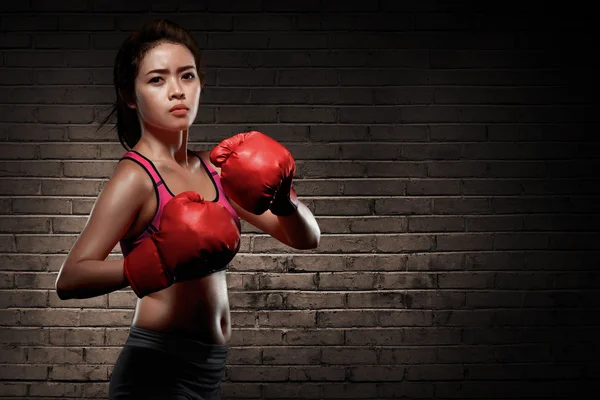
[[[133,326],[180,333],[205,343],[231,339],[226,271],[178,282],[138,299]]]

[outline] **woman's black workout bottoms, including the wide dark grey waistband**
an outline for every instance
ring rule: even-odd
[[[114,366],[109,400],[220,400],[227,344],[131,327]]]

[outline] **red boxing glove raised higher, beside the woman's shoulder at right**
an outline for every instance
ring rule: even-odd
[[[298,208],[292,186],[296,163],[279,142],[261,132],[238,133],[210,152],[210,161],[221,168],[227,196],[256,215],[270,209],[291,215]]]

